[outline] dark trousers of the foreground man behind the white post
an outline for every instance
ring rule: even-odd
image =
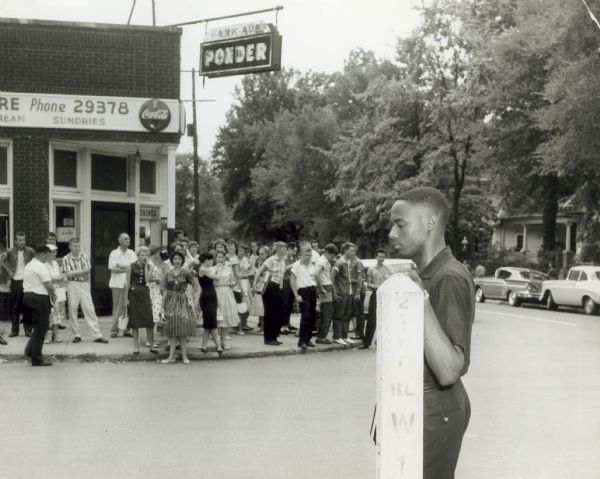
[[[423,479],[454,479],[471,417],[463,383],[423,393]]]

